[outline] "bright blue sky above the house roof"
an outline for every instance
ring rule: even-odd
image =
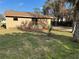
[[[42,9],[46,0],[0,0],[0,13],[7,10],[33,12],[34,8]]]

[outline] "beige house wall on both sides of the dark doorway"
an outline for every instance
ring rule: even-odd
[[[46,27],[50,24],[51,19],[38,19],[39,21],[42,21],[43,23],[46,23]],[[7,29],[11,29],[11,28],[17,28],[19,27],[22,22],[27,22],[27,26],[29,24],[29,22],[32,21],[32,18],[18,18],[17,21],[13,20],[13,17],[6,17],[6,28]]]

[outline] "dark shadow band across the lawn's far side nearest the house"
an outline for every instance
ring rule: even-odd
[[[19,42],[20,44],[22,44],[22,40],[28,39],[27,37],[38,38],[39,40],[49,40],[49,41],[54,40],[58,44],[61,45],[65,44],[71,49],[79,49],[79,43],[72,42],[72,37],[64,35],[56,35],[54,33],[48,36],[47,33],[45,32],[26,32],[26,33],[12,33],[12,34],[0,35],[0,43],[1,42],[5,43],[6,41],[7,43],[9,43],[11,40],[14,40],[14,42],[16,43]]]

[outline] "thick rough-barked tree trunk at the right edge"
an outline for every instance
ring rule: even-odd
[[[74,8],[73,8],[73,41],[77,42],[78,39],[79,39],[79,34],[78,34],[78,31],[79,31],[79,0],[76,0],[75,1],[75,5],[74,5]]]

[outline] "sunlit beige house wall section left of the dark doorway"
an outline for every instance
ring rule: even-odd
[[[13,20],[13,17],[6,17],[6,28],[17,28],[22,24],[22,22],[29,23],[32,19],[31,18],[18,18],[17,21]]]

